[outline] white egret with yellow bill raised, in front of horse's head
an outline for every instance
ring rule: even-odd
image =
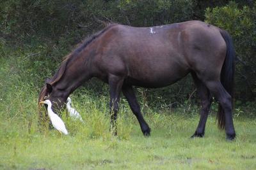
[[[63,133],[63,134],[68,134],[68,131],[65,127],[65,124],[64,122],[61,120],[61,118],[56,115],[53,111],[52,111],[52,103],[51,101],[49,100],[45,100],[45,101],[41,101],[40,104],[47,104],[47,113],[50,117],[50,120],[52,122],[52,126],[57,130],[59,131],[60,133]]]

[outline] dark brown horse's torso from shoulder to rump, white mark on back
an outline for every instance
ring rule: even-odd
[[[115,25],[102,42],[106,72],[123,74],[127,82],[145,87],[170,85],[207,67],[218,73],[225,58],[218,27],[199,21],[156,27]]]

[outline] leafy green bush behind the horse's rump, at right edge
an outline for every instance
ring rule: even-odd
[[[236,48],[236,97],[252,100],[256,92],[256,3],[239,8],[227,6],[207,8],[205,20],[230,32]]]

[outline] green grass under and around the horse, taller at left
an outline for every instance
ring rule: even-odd
[[[24,66],[17,67],[20,63]],[[156,112],[142,105],[152,129],[145,138],[122,99],[115,137],[109,132],[108,93],[81,89],[72,101],[85,123],[64,111],[68,136],[48,128],[40,133],[35,84],[41,82],[29,81],[36,79],[29,73],[20,57],[0,57],[0,169],[256,169],[256,119],[248,116],[253,108],[235,110],[237,138],[228,142],[215,115],[207,120],[205,138],[191,139],[198,110],[184,105]]]

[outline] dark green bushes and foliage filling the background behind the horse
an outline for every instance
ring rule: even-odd
[[[201,0],[0,1],[0,57],[12,60],[10,76],[39,91],[63,57],[77,43],[107,23],[147,27],[203,20],[230,32],[236,48],[236,104],[253,106],[256,96],[256,3]],[[108,96],[97,80],[85,83],[78,95]],[[152,108],[198,104],[190,76],[163,89],[138,89],[140,101]],[[4,93],[2,94],[4,97]],[[187,106],[187,105],[186,105]]]

